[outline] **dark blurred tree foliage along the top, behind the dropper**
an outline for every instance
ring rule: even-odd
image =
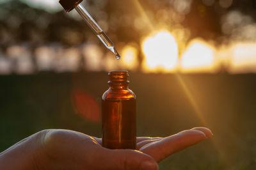
[[[84,1],[84,6],[99,22],[113,42],[136,42],[164,24],[170,30],[182,26],[190,31],[189,38],[200,36],[216,39],[223,36],[221,17],[230,10],[240,10],[255,19],[253,0],[234,0],[223,8],[220,1],[205,4],[206,0],[182,1]],[[145,16],[147,19],[145,19]],[[138,25],[139,24],[139,25]],[[138,29],[139,28],[139,29]],[[20,0],[5,1],[0,6],[0,44],[31,42],[34,45],[59,42],[79,45],[88,40],[99,42],[75,12],[50,13],[32,8]]]

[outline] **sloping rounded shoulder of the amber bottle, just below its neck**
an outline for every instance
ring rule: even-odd
[[[102,100],[130,100],[136,99],[135,93],[127,88],[127,89],[111,89],[109,88],[102,95]]]

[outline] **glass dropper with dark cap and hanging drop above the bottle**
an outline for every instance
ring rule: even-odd
[[[104,33],[104,31],[102,31],[101,27],[97,24],[97,22],[95,22],[90,13],[88,13],[87,10],[83,7],[81,4],[82,1],[83,0],[60,0],[59,3],[61,6],[63,6],[67,13],[75,8],[77,13],[81,15],[83,20],[90,27],[90,29],[92,29],[93,33],[98,36],[105,47],[113,52],[113,54],[115,54],[116,59],[120,59],[121,57],[115,49],[114,43],[111,42],[110,38],[106,35],[106,33]]]

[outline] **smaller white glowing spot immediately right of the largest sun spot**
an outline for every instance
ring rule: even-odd
[[[181,57],[182,72],[213,72],[215,49],[202,40],[193,40]]]

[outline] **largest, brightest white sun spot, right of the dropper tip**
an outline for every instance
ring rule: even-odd
[[[177,67],[178,45],[174,36],[165,30],[158,31],[142,43],[145,54],[145,72],[172,72]]]

